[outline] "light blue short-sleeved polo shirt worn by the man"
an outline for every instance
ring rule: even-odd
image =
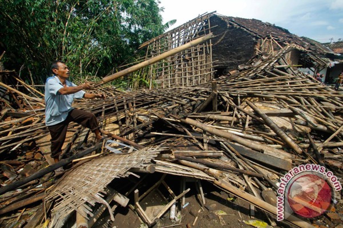
[[[76,86],[74,83],[66,80],[67,87]],[[82,98],[84,91],[61,95],[58,91],[63,85],[55,75],[46,79],[45,82],[45,125],[51,126],[64,121],[71,107],[74,97]]]

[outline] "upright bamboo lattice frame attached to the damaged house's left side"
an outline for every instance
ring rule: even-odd
[[[146,49],[145,57],[131,64],[145,61],[209,34],[211,32],[209,20],[211,15],[212,13],[201,15],[143,43],[140,49]],[[127,68],[130,65],[122,66],[122,68]],[[213,72],[212,44],[211,40],[209,40],[134,72],[132,80],[135,83],[133,83],[132,89],[139,89],[138,80],[143,80],[149,89],[197,85],[211,80]]]

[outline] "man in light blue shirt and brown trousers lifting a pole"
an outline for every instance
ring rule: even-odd
[[[102,138],[96,117],[91,112],[73,108],[71,106],[73,99],[83,97],[105,99],[105,95],[84,92],[83,89],[94,89],[90,82],[75,85],[68,81],[70,72],[62,61],[51,63],[51,73],[52,77],[47,78],[45,83],[45,124],[51,135],[51,157],[56,163],[59,161],[70,122],[73,121],[90,128],[95,133],[96,140],[99,141]]]

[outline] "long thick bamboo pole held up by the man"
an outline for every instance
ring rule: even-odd
[[[196,46],[196,45],[198,45],[200,43],[203,43],[203,42],[205,42],[206,40],[208,40],[208,39],[210,39],[212,37],[213,37],[213,33],[211,32],[211,33],[209,33],[209,34],[207,34],[207,35],[205,35],[203,37],[200,37],[200,38],[198,38],[196,40],[193,40],[193,41],[191,41],[189,43],[186,43],[186,44],[181,45],[181,46],[179,46],[177,48],[171,49],[171,50],[169,50],[169,51],[167,51],[167,52],[165,52],[165,53],[163,53],[161,55],[157,55],[157,56],[155,56],[155,57],[153,57],[151,59],[148,59],[148,60],[146,60],[146,61],[144,61],[142,63],[139,63],[137,65],[129,67],[129,68],[125,69],[125,70],[121,70],[121,71],[119,71],[117,73],[114,73],[112,75],[109,75],[109,76],[103,78],[100,82],[96,83],[95,86],[99,86],[99,85],[105,84],[107,82],[115,80],[116,78],[125,76],[125,75],[127,75],[129,73],[132,73],[134,71],[137,71],[137,70],[139,70],[139,69],[141,69],[143,67],[149,66],[149,65],[151,65],[153,63],[156,63],[156,62],[158,62],[158,61],[160,61],[162,59],[165,59],[165,58],[167,58],[169,56],[175,55],[175,54],[177,54],[179,52],[182,52],[182,51],[184,51],[186,49],[189,49],[189,48],[191,48],[193,46]]]

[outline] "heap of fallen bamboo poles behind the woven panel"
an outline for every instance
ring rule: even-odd
[[[74,105],[93,112],[104,134],[136,149],[159,145],[176,148],[158,156],[152,162],[152,170],[195,178],[209,176],[209,183],[263,210],[273,225],[277,183],[292,167],[305,163],[321,164],[342,177],[343,93],[322,85],[294,67],[288,67],[284,56],[295,48],[298,47],[287,46],[256,66],[197,87],[128,93],[110,87],[100,88],[106,92],[106,100],[81,100]],[[33,100],[37,102],[37,99]],[[30,112],[17,112],[27,116],[13,119],[12,114],[10,119],[2,118],[1,151],[9,152],[15,145],[35,142],[36,150],[48,161],[48,152],[41,151],[47,148],[41,145],[44,138],[49,145],[44,110],[33,106]],[[26,203],[40,201],[44,197],[40,195],[43,191],[32,193],[30,190],[40,184],[43,190],[49,188],[50,185],[45,183],[54,178],[51,175],[54,169],[73,160],[72,167],[77,169],[79,163],[109,153],[103,144],[87,146],[94,140],[88,129],[70,124],[68,131],[70,137],[63,149],[67,159],[50,164],[31,176],[19,175],[7,180],[6,185],[0,188],[4,194],[0,198],[0,212],[10,208],[5,212],[15,211],[15,219],[19,216],[17,221],[25,220],[24,224],[29,223],[30,226],[40,224],[41,219],[31,222],[34,219],[30,220],[23,216],[24,211],[18,211],[27,204],[13,203],[11,199],[23,196],[14,190],[21,188],[30,192],[32,201]],[[38,142],[39,139],[42,140]],[[102,148],[101,155],[96,155],[98,148]],[[93,155],[89,158],[75,160],[90,156],[90,153]],[[6,153],[4,160],[9,156]],[[20,160],[19,155],[15,156]],[[197,172],[186,174],[180,171],[182,167]],[[139,186],[137,184],[134,188]],[[263,198],[263,192],[267,190],[274,195]],[[336,197],[339,200],[341,196],[337,193]],[[42,210],[37,206],[37,215],[42,214]],[[5,224],[11,219],[6,218]],[[312,227],[309,220],[295,216],[288,217],[287,222],[293,226]],[[323,223],[333,224],[328,218],[324,218]]]

